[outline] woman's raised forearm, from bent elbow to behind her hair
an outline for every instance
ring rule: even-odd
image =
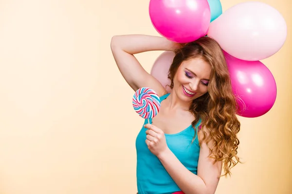
[[[176,49],[177,44],[167,40],[164,37],[130,34],[113,36],[111,47],[118,47],[129,54],[137,54],[152,50],[169,50]]]

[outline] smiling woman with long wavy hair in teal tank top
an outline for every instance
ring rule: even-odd
[[[219,44],[209,37],[184,46],[164,37],[118,35],[111,40],[116,64],[130,87],[149,87],[160,112],[136,139],[139,194],[214,194],[221,170],[239,162],[237,104]],[[176,53],[168,78],[172,92],[140,65],[134,54]]]

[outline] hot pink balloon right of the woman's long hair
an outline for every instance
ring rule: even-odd
[[[277,88],[271,71],[259,61],[237,59],[224,51],[232,89],[239,97],[238,115],[261,116],[273,107]]]

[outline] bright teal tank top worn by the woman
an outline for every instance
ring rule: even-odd
[[[166,94],[160,97],[160,101],[168,97]],[[201,121],[201,120],[200,120]],[[149,119],[152,123],[152,119]],[[145,119],[144,125],[148,123]],[[198,128],[200,122],[197,124]],[[144,126],[143,125],[143,126]],[[136,138],[137,152],[137,189],[139,194],[172,194],[181,189],[169,176],[160,160],[150,152],[146,140],[146,128],[142,127]],[[188,128],[176,134],[165,134],[166,143],[174,155],[192,173],[197,175],[197,167],[200,153],[198,136],[193,143],[195,129],[190,125]]]

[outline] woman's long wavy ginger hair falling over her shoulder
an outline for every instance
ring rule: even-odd
[[[208,92],[194,99],[189,110],[195,116],[195,120],[192,122],[194,129],[200,119],[201,123],[198,128],[207,129],[207,131],[201,130],[203,134],[201,141],[205,141],[207,145],[212,142],[212,148],[209,146],[209,157],[215,159],[214,162],[222,161],[224,174],[221,176],[231,176],[231,168],[240,162],[237,156],[239,145],[237,133],[240,123],[236,116],[237,101],[232,91],[222,49],[214,39],[205,36],[184,44],[175,51],[175,54],[168,72],[171,89],[174,76],[183,61],[201,58],[211,66]]]

